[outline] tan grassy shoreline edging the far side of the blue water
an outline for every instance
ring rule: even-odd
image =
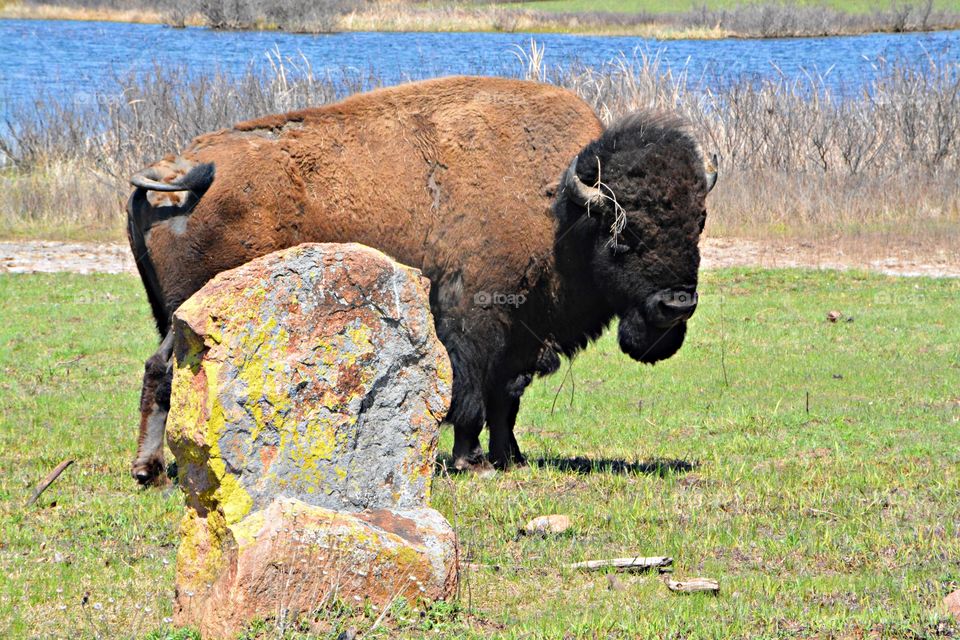
[[[603,17],[608,16],[608,22]],[[837,30],[831,33],[789,33],[758,35],[741,33],[720,27],[681,27],[668,23],[616,22],[622,14],[556,14],[518,9],[491,7],[455,9],[444,14],[440,10],[390,5],[388,8],[350,12],[337,18],[331,31],[310,29],[282,29],[273,24],[254,24],[236,29],[213,29],[199,14],[186,16],[182,24],[171,24],[161,12],[142,9],[91,9],[55,4],[0,6],[0,20],[44,20],[72,22],[115,22],[124,24],[157,24],[171,29],[186,27],[208,28],[218,31],[282,32],[295,35],[329,35],[336,33],[518,33],[569,34],[579,36],[625,36],[653,40],[769,40],[780,38],[832,38],[874,34],[938,33],[960,29],[960,21],[937,25],[928,29],[873,29]]]

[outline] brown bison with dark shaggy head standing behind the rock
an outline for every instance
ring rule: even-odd
[[[199,136],[131,179],[130,246],[161,337],[134,477],[163,470],[173,311],[217,273],[302,242],[359,242],[429,278],[455,466],[522,463],[520,397],[561,355],[615,317],[635,360],[680,348],[715,181],[675,117],[604,130],[572,93],[502,78],[411,83]]]

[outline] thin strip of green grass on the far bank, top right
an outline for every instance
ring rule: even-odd
[[[510,8],[535,9],[538,11],[555,11],[562,13],[677,13],[699,9],[706,6],[708,9],[733,9],[750,4],[744,0],[705,0],[688,3],[664,2],[663,0],[536,0],[534,2],[517,2],[506,6]],[[765,4],[760,2],[757,4]],[[776,4],[776,3],[770,3]],[[873,11],[889,11],[889,2],[871,2],[870,0],[794,0],[788,4],[806,7],[828,7],[836,11],[861,14]],[[911,3],[896,3],[896,6]],[[920,2],[912,4],[920,5]],[[960,0],[936,0],[933,3],[936,10],[960,10]]]

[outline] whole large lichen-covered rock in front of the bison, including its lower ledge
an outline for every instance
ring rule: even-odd
[[[428,506],[451,391],[428,291],[368,247],[307,244],[218,275],[177,310],[179,623],[222,637],[331,589],[384,604],[400,577],[400,595],[455,588],[456,540]],[[332,549],[349,572],[299,567]]]

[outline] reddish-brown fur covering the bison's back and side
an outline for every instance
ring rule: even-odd
[[[600,131],[566,90],[449,78],[200,136],[180,159],[214,163],[216,179],[186,234],[160,224],[147,242],[166,312],[219,271],[348,239],[425,273],[455,263],[477,290],[512,290],[547,266],[528,262],[550,251],[550,187]]]

